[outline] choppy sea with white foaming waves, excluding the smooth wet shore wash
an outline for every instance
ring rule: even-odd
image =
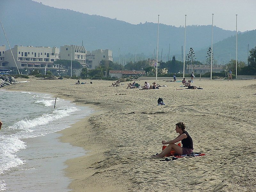
[[[27,148],[21,139],[60,131],[92,113],[84,108],[82,113],[77,112],[81,109],[75,104],[59,98],[54,109],[55,98],[50,94],[0,91],[0,100],[1,120],[4,122],[0,131],[0,191],[7,190],[4,172],[25,165],[25,161],[16,156],[17,151]]]

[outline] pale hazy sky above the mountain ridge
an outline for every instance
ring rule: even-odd
[[[51,7],[70,9],[126,21],[172,26],[213,25],[226,30],[256,29],[256,0],[36,0]]]

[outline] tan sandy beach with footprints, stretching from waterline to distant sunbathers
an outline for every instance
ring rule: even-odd
[[[167,87],[159,90],[126,89],[130,82],[17,79],[24,80],[30,82],[2,89],[48,92],[97,111],[61,131],[62,142],[90,151],[66,162],[72,191],[256,191],[255,79],[195,79],[203,90],[177,90],[180,82],[164,80],[157,83]],[[164,106],[157,106],[158,97]],[[152,159],[163,139],[177,137],[180,121],[194,151],[206,155]]]

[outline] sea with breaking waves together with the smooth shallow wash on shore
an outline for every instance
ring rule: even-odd
[[[69,191],[64,161],[85,154],[55,133],[86,115],[88,107],[50,94],[0,90],[0,191]]]

